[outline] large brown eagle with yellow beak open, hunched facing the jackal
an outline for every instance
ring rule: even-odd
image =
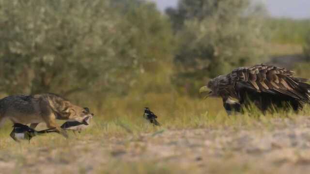
[[[310,102],[310,85],[306,83],[308,79],[293,75],[293,71],[272,65],[240,67],[211,79],[207,86],[200,88],[200,93],[221,97],[228,113],[239,112],[250,103],[263,112],[270,107],[291,107],[298,111]]]

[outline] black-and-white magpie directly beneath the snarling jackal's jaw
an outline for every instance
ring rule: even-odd
[[[89,108],[84,108],[86,112],[90,112]],[[82,130],[86,129],[89,124],[90,124],[90,120],[93,118],[93,114],[92,116],[87,116],[83,119],[83,122],[80,123],[78,121],[74,121],[74,120],[68,120],[66,122],[64,122],[61,126],[62,129],[64,130],[71,130],[73,131],[73,133],[75,133],[76,131],[78,131],[78,133],[80,133]]]

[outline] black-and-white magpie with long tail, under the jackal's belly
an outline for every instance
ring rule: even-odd
[[[19,140],[28,140],[30,142],[31,138],[36,135],[43,135],[44,133],[55,132],[52,129],[47,129],[43,131],[35,131],[27,125],[23,125],[20,123],[15,123],[13,126],[13,131],[10,133],[10,136],[16,142],[20,142]]]

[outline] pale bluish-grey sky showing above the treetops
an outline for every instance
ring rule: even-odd
[[[178,0],[150,0],[160,10],[175,7]],[[266,4],[269,13],[276,17],[310,18],[310,0],[256,0]]]

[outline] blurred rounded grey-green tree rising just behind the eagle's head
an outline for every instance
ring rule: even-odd
[[[254,10],[252,10],[254,9]],[[262,61],[263,23],[249,0],[180,0],[171,17],[182,72],[215,77]]]

